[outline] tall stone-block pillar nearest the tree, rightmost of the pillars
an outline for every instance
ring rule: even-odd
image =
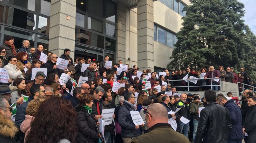
[[[138,0],[138,67],[154,71],[154,3]]]

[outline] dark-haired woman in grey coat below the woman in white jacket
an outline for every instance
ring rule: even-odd
[[[13,81],[12,85],[13,86],[10,86],[10,90],[13,91],[11,93],[11,104],[16,102],[17,105],[20,105],[24,100],[24,97],[22,96],[22,94],[25,95],[25,87],[26,87],[25,79],[17,78]]]

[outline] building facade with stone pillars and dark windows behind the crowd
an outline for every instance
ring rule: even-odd
[[[0,44],[14,37],[31,47],[102,61],[109,55],[160,71],[170,62],[182,9],[189,0],[0,0]]]

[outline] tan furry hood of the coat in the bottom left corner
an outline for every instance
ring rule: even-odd
[[[16,143],[14,136],[18,132],[11,119],[5,118],[0,114],[0,142]]]

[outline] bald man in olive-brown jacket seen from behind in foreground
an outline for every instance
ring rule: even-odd
[[[162,104],[154,103],[143,113],[148,132],[132,139],[131,143],[189,143],[188,138],[175,132],[168,124],[167,111]]]

